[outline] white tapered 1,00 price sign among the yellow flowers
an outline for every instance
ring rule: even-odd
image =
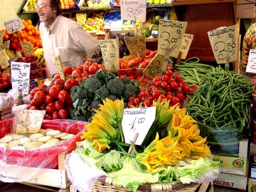
[[[155,121],[156,107],[129,108],[124,109],[122,127],[124,141],[130,144],[136,133],[138,138],[135,145],[141,145]]]

